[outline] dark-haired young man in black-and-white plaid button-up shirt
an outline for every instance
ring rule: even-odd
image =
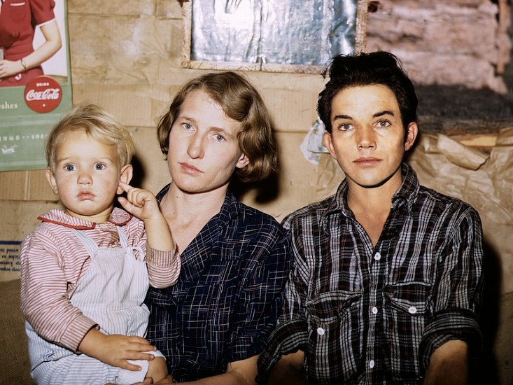
[[[482,226],[403,162],[417,98],[388,52],[339,55],[318,113],[337,193],[283,221],[293,268],[268,384],[465,384],[481,349]]]

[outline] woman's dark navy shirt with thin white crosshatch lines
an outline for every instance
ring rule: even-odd
[[[181,260],[176,285],[150,288],[146,298],[147,337],[174,379],[220,374],[227,363],[259,354],[276,326],[290,271],[281,225],[227,193]]]

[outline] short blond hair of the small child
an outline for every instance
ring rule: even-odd
[[[128,130],[97,104],[77,104],[59,120],[46,139],[46,162],[53,173],[57,148],[68,134],[80,130],[92,139],[113,144],[118,152],[120,167],[132,161],[135,147]]]

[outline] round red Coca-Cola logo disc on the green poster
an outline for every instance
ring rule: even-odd
[[[25,87],[25,103],[33,111],[46,113],[57,109],[62,100],[62,87],[50,76],[38,76]]]

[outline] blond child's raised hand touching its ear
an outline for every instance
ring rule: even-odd
[[[120,182],[120,188],[127,193],[127,197],[118,197],[123,209],[142,221],[160,216],[160,209],[151,191],[134,188],[127,183]]]

